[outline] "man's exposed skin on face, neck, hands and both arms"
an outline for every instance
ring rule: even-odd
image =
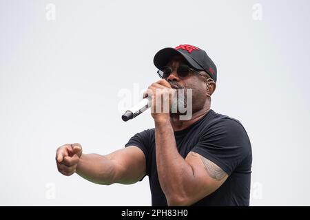
[[[189,206],[218,189],[227,174],[214,162],[190,152],[185,159],[178,153],[174,131],[186,129],[205,115],[216,89],[207,73],[191,73],[180,78],[176,69],[186,63],[176,56],[168,63],[173,72],[166,79],[152,83],[143,96],[152,95],[152,107],[165,94],[174,94],[170,84],[193,89],[193,113],[190,120],[179,120],[178,113],[152,112],[155,124],[156,164],[158,179],[169,206]],[[170,100],[171,102],[171,100]],[[171,103],[170,103],[171,104]],[[162,105],[163,106],[163,105]],[[145,155],[140,148],[130,146],[109,155],[83,154],[81,144],[65,144],[56,151],[56,164],[63,175],[77,173],[96,184],[133,184],[146,172]]]

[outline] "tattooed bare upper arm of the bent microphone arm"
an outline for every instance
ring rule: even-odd
[[[211,160],[191,151],[185,161],[191,166],[192,181],[191,204],[203,199],[217,190],[227,179],[225,171]]]

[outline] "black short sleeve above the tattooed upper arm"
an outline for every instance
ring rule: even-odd
[[[225,118],[203,131],[192,151],[220,166],[231,175],[251,151],[247,132],[237,120]]]

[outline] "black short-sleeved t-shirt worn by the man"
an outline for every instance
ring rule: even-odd
[[[174,136],[178,153],[183,158],[194,151],[220,166],[229,175],[220,188],[193,206],[249,206],[251,143],[238,120],[209,110],[191,126],[175,131]],[[137,146],[145,154],[152,206],[167,206],[157,175],[155,130],[136,133],[125,146]]]

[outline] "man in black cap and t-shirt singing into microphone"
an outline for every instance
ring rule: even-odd
[[[192,117],[152,111],[155,128],[109,155],[82,154],[80,144],[65,144],[56,152],[59,172],[105,185],[134,184],[148,175],[152,206],[249,206],[251,144],[238,120],[210,109],[216,65],[192,45],[160,50],[154,65],[162,79],[144,94],[152,95],[152,107],[165,94],[192,89]]]

